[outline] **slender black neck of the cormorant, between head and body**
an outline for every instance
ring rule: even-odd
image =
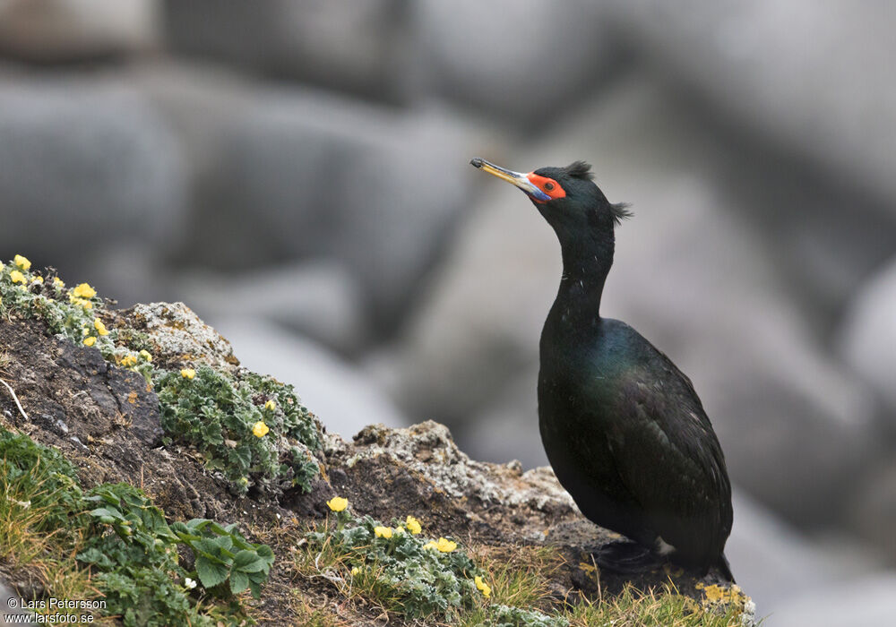
[[[600,319],[600,296],[613,265],[613,242],[563,246],[563,278],[551,317],[557,325],[584,330]]]

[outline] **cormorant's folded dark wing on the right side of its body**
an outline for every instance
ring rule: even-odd
[[[728,471],[690,380],[657,353],[664,376],[634,370],[617,388],[611,454],[650,527],[680,553],[711,559],[731,530]]]

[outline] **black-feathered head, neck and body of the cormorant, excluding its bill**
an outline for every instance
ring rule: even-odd
[[[728,471],[693,385],[637,331],[599,314],[625,210],[607,202],[584,164],[521,176],[542,196],[564,193],[530,193],[564,261],[538,374],[538,424],[557,478],[601,527],[732,579],[723,554],[732,522]]]

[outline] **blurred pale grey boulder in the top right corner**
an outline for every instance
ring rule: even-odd
[[[602,8],[607,27],[669,82],[697,90],[745,133],[884,194],[892,211],[892,6],[616,0]]]

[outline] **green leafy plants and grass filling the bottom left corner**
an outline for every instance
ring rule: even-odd
[[[269,546],[247,542],[234,526],[198,519],[168,525],[132,485],[102,484],[85,493],[57,451],[4,429],[0,494],[4,545],[19,559],[58,554],[53,570],[77,574],[78,564],[89,567],[107,603],[103,613],[120,615],[127,627],[245,622],[234,595],[249,588],[258,597],[273,563]],[[193,553],[194,571],[181,565],[181,545]],[[200,611],[202,596],[225,605]]]

